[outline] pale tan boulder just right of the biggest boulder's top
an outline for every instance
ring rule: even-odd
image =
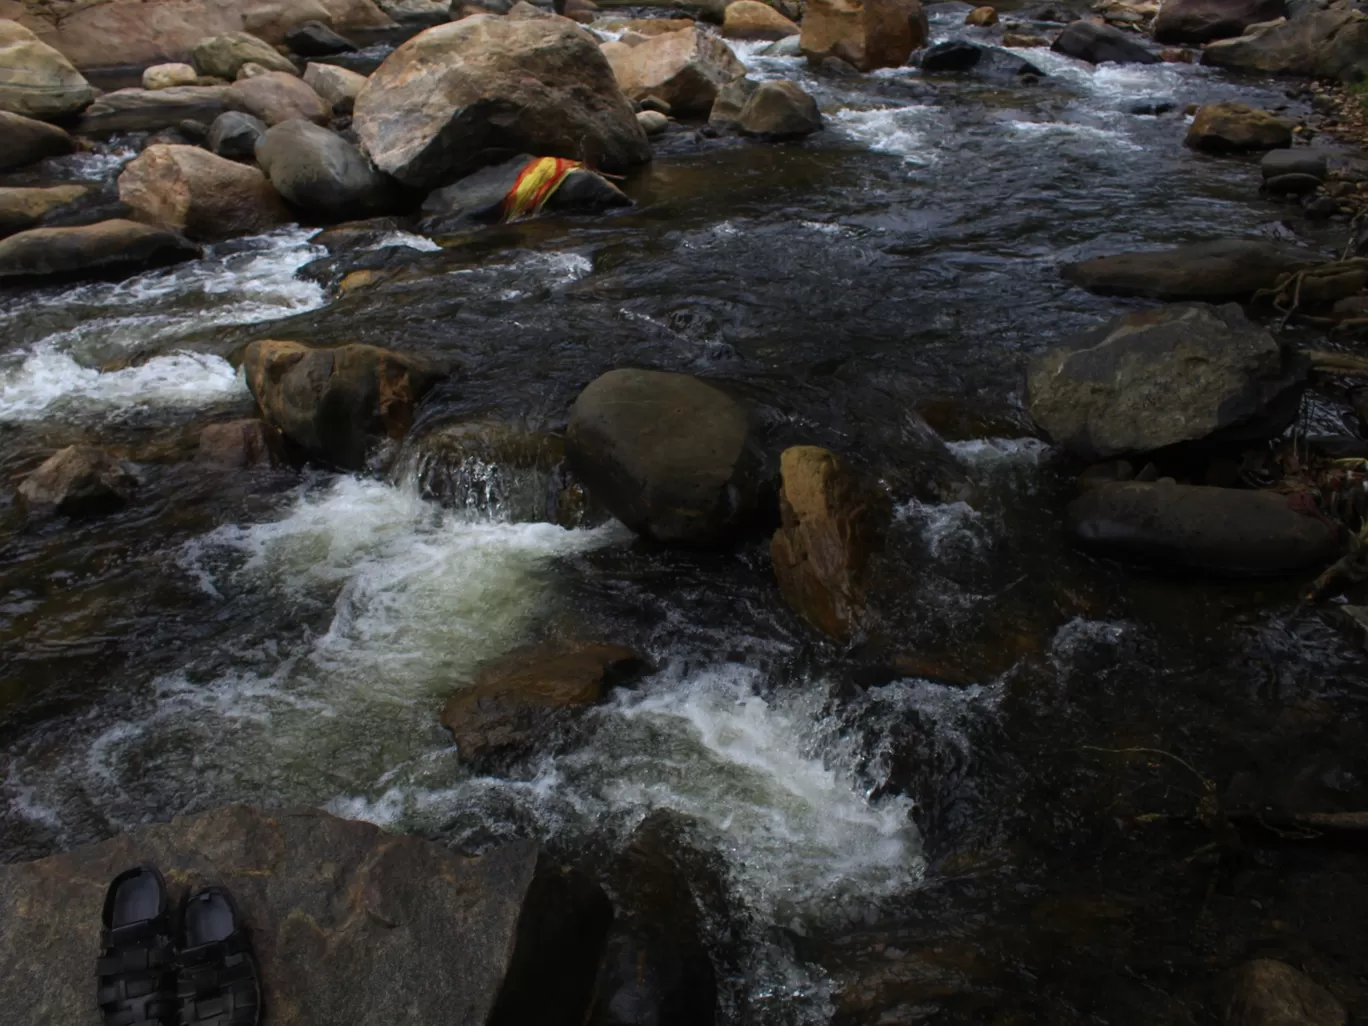
[[[654,96],[677,115],[706,114],[717,90],[746,74],[725,42],[698,27],[654,36],[609,63],[629,100]]]

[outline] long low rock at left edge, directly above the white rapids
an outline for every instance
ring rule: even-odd
[[[0,279],[135,272],[200,254],[175,231],[133,220],[70,228],[31,228],[0,239]]]

